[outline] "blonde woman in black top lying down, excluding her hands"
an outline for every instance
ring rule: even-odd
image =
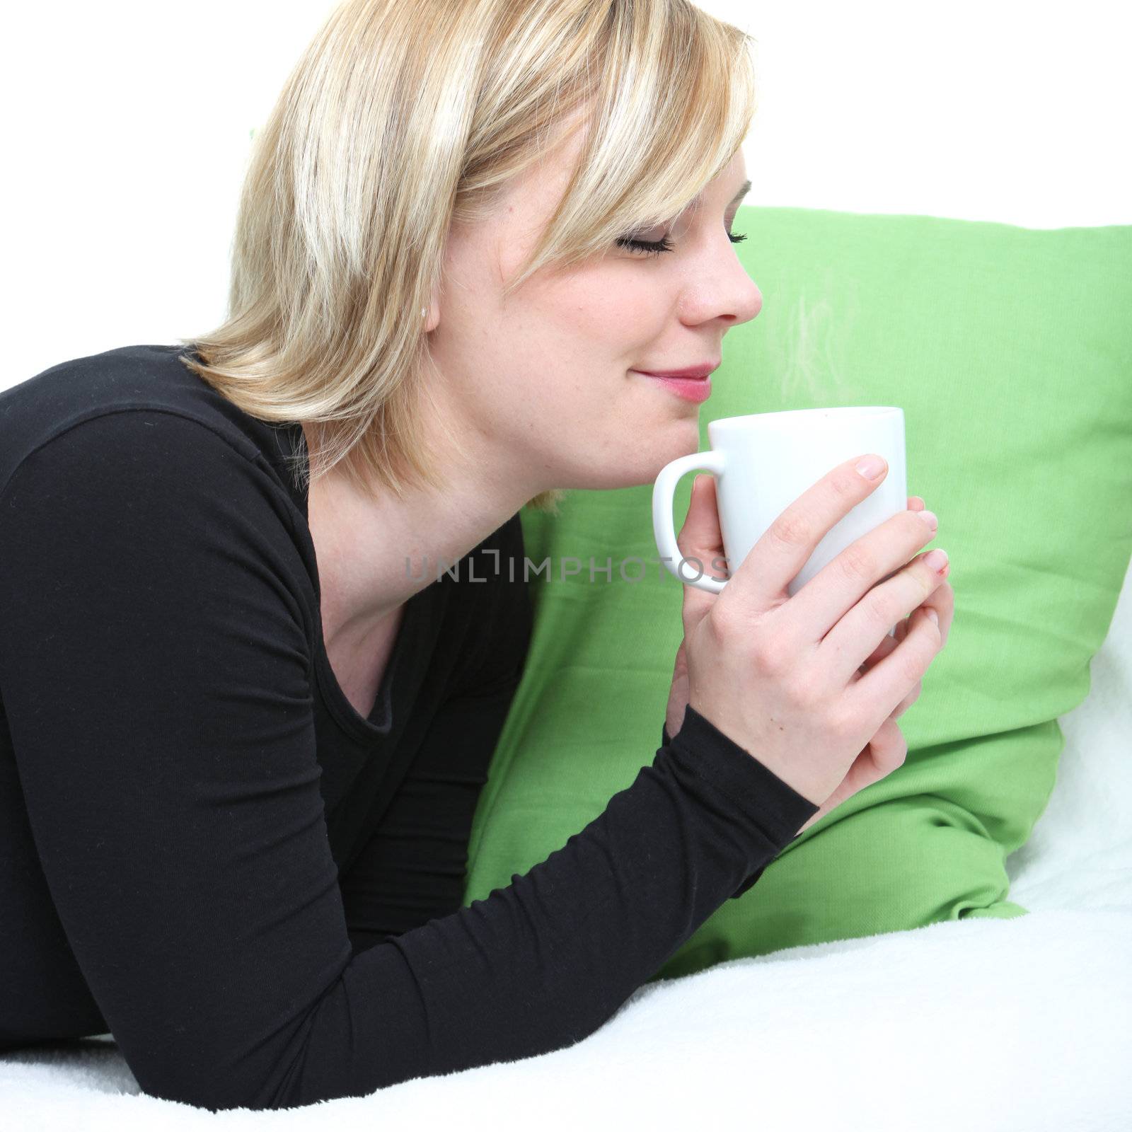
[[[678,664],[653,765],[462,908],[518,511],[694,451],[648,374],[758,314],[752,91],[684,0],[351,0],[256,139],[226,321],[0,396],[0,1040],[109,1031],[209,1108],[560,1048],[821,812],[843,769],[754,760]]]

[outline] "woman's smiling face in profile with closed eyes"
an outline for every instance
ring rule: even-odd
[[[720,361],[723,335],[762,309],[728,238],[743,154],[667,229],[671,251],[615,245],[572,268],[543,268],[503,300],[565,191],[576,131],[508,187],[496,216],[454,226],[429,352],[461,441],[524,498],[548,488],[652,482],[700,444],[700,404],[638,370]],[[517,506],[517,505],[516,505]]]

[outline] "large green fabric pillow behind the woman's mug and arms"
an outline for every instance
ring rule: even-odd
[[[904,765],[787,846],[653,978],[1026,915],[1005,859],[1049,800],[1057,718],[1088,695],[1132,554],[1132,226],[747,206],[735,229],[764,305],[723,340],[701,451],[718,417],[900,405],[908,494],[940,516],[955,617],[900,719]],[[655,564],[651,496],[578,490],[558,516],[522,512],[526,556],[554,576],[529,583],[534,636],[475,814],[468,903],[565,844],[661,743],[681,586]],[[582,571],[564,581],[572,556]]]

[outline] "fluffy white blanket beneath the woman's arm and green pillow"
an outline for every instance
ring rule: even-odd
[[[642,987],[568,1049],[255,1113],[137,1095],[112,1046],[5,1058],[10,1129],[1132,1127],[1132,909],[964,920]],[[441,1124],[441,1122],[444,1122]],[[709,1125],[710,1126],[710,1125]]]

